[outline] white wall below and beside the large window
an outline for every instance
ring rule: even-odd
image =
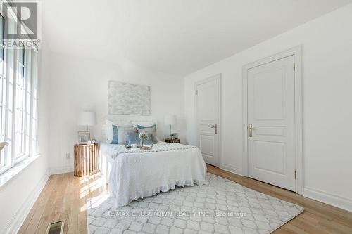
[[[42,55],[39,54],[39,64]],[[39,152],[41,156],[0,188],[0,233],[15,233],[30,211],[49,178],[49,79],[44,76],[47,63],[39,67]]]

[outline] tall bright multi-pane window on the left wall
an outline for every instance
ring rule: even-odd
[[[4,34],[15,27],[0,15],[0,174],[37,155],[37,52],[4,48]]]

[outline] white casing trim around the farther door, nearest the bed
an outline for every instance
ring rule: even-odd
[[[197,88],[199,86],[199,84],[203,84],[206,82],[211,82],[213,80],[218,80],[218,159],[217,159],[217,165],[215,165],[216,167],[220,167],[221,165],[221,148],[222,148],[222,144],[221,144],[221,134],[222,134],[222,129],[221,129],[221,73],[219,74],[214,74],[211,77],[205,78],[205,79],[201,79],[197,82],[194,83],[194,119],[196,121],[196,145],[199,147],[199,127],[198,127],[198,113],[197,113]]]

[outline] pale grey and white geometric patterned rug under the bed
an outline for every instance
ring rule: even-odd
[[[203,186],[175,188],[113,207],[103,195],[87,202],[89,233],[272,233],[303,208],[207,174]]]

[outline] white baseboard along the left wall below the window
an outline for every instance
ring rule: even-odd
[[[22,223],[25,221],[25,218],[30,213],[30,209],[32,209],[34,202],[37,200],[40,193],[42,192],[42,189],[44,188],[46,181],[48,181],[49,176],[49,171],[46,171],[42,180],[39,181],[37,186],[35,186],[34,190],[32,190],[30,195],[27,197],[18,212],[13,217],[13,219],[11,219],[10,223],[8,223],[8,226],[5,228],[4,234],[12,234],[18,232],[18,230],[22,226]]]

